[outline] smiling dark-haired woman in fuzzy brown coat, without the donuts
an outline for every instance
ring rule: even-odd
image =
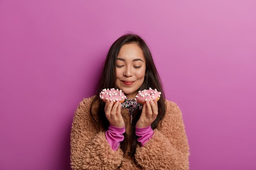
[[[157,89],[159,101],[137,103],[140,90]],[[118,88],[124,103],[103,102],[104,88]],[[189,169],[189,146],[176,103],[165,99],[148,46],[136,34],[116,40],[106,57],[99,86],[76,109],[71,131],[73,170]]]

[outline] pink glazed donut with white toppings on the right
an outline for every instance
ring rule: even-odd
[[[153,90],[149,88],[149,90],[139,91],[139,93],[135,96],[135,100],[144,104],[146,101],[154,100],[157,101],[160,99],[161,92],[158,92],[157,89]]]

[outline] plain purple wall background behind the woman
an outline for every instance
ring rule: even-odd
[[[74,111],[110,45],[148,43],[191,170],[255,170],[256,1],[0,0],[0,169],[69,170]]]

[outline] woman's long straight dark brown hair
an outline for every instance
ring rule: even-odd
[[[148,89],[149,87],[153,89],[157,89],[157,91],[161,91],[162,95],[157,102],[158,106],[158,115],[155,121],[151,124],[151,128],[154,130],[157,128],[157,125],[159,122],[163,119],[165,111],[166,111],[166,106],[165,106],[165,95],[164,91],[162,88],[162,82],[159,77],[159,74],[157,72],[157,69],[155,67],[155,63],[153,61],[151,52],[146,44],[146,42],[139,36],[134,33],[127,33],[122,35],[120,38],[118,38],[110,47],[108,51],[108,55],[105,60],[105,64],[103,66],[103,71],[101,73],[101,77],[99,79],[98,87],[96,89],[96,97],[92,100],[92,104],[90,107],[90,113],[92,118],[94,119],[92,115],[92,106],[95,104],[95,102],[99,102],[99,110],[98,110],[98,120],[97,122],[95,119],[94,121],[97,123],[97,125],[100,127],[103,127],[104,130],[108,130],[108,126],[110,125],[108,119],[105,116],[105,111],[104,111],[104,106],[105,102],[103,102],[99,98],[99,93],[102,91],[104,88],[117,88],[115,86],[116,84],[116,60],[117,60],[117,55],[119,54],[119,51],[121,47],[124,44],[132,44],[135,43],[137,44],[141,50],[143,51],[144,58],[146,60],[146,74],[144,78],[144,82],[141,85],[141,87],[138,89],[138,91],[142,91],[144,89]],[[135,126],[137,121],[139,120],[139,117],[141,115],[141,110],[137,109],[135,110],[134,113],[132,113],[132,122],[131,122],[131,130],[130,130],[130,137],[128,138],[128,135],[126,132],[124,133],[124,141],[121,142],[120,147],[126,152],[126,149],[128,147],[128,143],[130,143],[130,152],[129,155],[130,157],[134,158],[136,148],[137,148],[137,137],[135,135]]]

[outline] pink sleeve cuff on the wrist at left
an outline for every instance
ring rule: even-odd
[[[112,150],[118,149],[120,142],[124,140],[124,135],[123,135],[124,132],[125,132],[125,127],[118,128],[110,124],[105,134]]]

